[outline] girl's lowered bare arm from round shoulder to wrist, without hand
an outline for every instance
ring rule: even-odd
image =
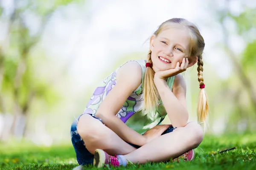
[[[142,79],[142,70],[137,62],[128,62],[119,68],[116,74],[116,85],[106,96],[96,112],[96,117],[115,132],[125,142],[143,146],[146,139],[140,133],[129,128],[116,114],[125,100],[136,90]]]

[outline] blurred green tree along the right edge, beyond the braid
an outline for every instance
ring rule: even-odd
[[[230,9],[230,0],[226,0],[224,4],[224,8],[222,9],[214,9],[216,16],[218,18],[219,23],[221,24],[221,31],[223,35],[223,44],[221,44],[222,48],[227,54],[227,57],[230,58],[230,62],[232,63],[234,70],[236,71],[236,75],[241,83],[242,88],[236,86],[235,91],[229,91],[230,96],[233,101],[233,109],[230,114],[230,123],[232,121],[236,121],[237,128],[239,128],[239,122],[245,120],[245,130],[250,130],[252,126],[250,124],[250,119],[252,119],[253,115],[251,114],[251,109],[253,109],[254,117],[256,113],[256,91],[253,86],[253,79],[250,79],[250,71],[255,73],[255,65],[256,65],[256,36],[255,33],[256,28],[256,8],[248,8],[246,2],[244,2],[244,6],[242,6],[242,11],[239,15],[233,14]],[[232,20],[236,25],[237,32],[235,34],[242,37],[245,42],[245,49],[242,54],[238,54],[236,51],[233,51],[230,48],[230,37],[234,34],[234,32],[230,32],[227,25],[227,20]],[[230,80],[229,80],[230,82]],[[244,94],[244,90],[247,91],[247,95]],[[244,96],[248,96],[250,101],[252,102],[251,107],[248,107],[248,104],[244,104],[241,99],[244,99]],[[234,122],[233,122],[234,123]],[[234,130],[234,129],[229,129]]]

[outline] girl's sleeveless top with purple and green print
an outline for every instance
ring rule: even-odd
[[[131,93],[131,95],[125,101],[124,105],[118,111],[116,116],[119,117],[122,122],[124,122],[128,127],[137,131],[140,134],[143,134],[148,129],[159,125],[163,121],[167,113],[163,106],[163,103],[160,101],[160,105],[158,105],[158,109],[156,112],[152,111],[143,116],[141,109],[143,106],[143,78],[146,70],[145,60],[140,59],[131,61],[135,61],[140,64],[142,68],[142,83],[135,91]],[[122,65],[120,67],[122,67]],[[105,97],[108,95],[111,89],[116,85],[116,73],[119,68],[117,68],[108,77],[106,77],[101,82],[100,86],[96,88],[83,113],[89,113],[92,116],[95,116],[99,105],[104,101]],[[171,90],[174,79],[175,77],[169,77],[167,79],[167,84]]]

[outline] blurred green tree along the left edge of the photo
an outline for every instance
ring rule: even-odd
[[[73,1],[0,1],[0,22],[6,26],[4,38],[0,42],[0,111],[3,114],[13,113],[12,135],[15,135],[16,130],[21,130],[21,136],[26,134],[26,120],[33,99],[44,100],[47,105],[57,101],[55,98],[58,94],[51,84],[35,74],[36,66],[31,51],[38,44],[55,10]],[[35,22],[39,26],[33,27]]]

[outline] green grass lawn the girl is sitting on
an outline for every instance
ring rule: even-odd
[[[195,160],[190,162],[148,163],[102,169],[254,170],[256,167],[256,134],[205,136],[199,147],[195,149]],[[218,151],[230,147],[237,148],[218,153]],[[76,166],[78,166],[76,154],[71,143],[54,147],[37,147],[32,144],[17,144],[16,146],[0,144],[1,170],[70,170]],[[84,169],[96,168],[87,166]]]

